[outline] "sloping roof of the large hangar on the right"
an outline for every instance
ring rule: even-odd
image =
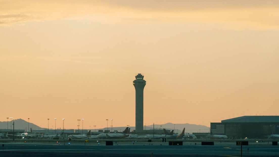
[[[221,120],[222,123],[279,123],[279,116],[242,116]]]

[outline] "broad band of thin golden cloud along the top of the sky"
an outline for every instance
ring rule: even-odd
[[[209,23],[279,29],[276,1],[4,1],[0,25],[92,19],[117,24]]]

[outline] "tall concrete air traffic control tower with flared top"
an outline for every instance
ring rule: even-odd
[[[143,88],[146,81],[138,74],[133,81],[136,89],[136,132],[143,132]]]

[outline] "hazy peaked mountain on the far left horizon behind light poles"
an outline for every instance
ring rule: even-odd
[[[11,125],[12,125],[12,129],[13,129],[13,121],[14,120],[11,121],[9,119],[9,121],[8,121],[8,129],[11,129]],[[25,130],[26,128],[28,130],[28,122],[27,121],[25,121],[23,119],[15,119],[15,129]],[[35,125],[35,124],[29,122],[29,130],[30,130],[30,128],[32,128],[32,129],[40,129],[40,127],[38,125]],[[0,129],[7,129],[7,122],[0,122]]]

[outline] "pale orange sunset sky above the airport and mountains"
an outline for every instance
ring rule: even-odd
[[[279,1],[0,0],[0,121],[77,129],[277,115]],[[111,120],[108,125],[111,125]]]

